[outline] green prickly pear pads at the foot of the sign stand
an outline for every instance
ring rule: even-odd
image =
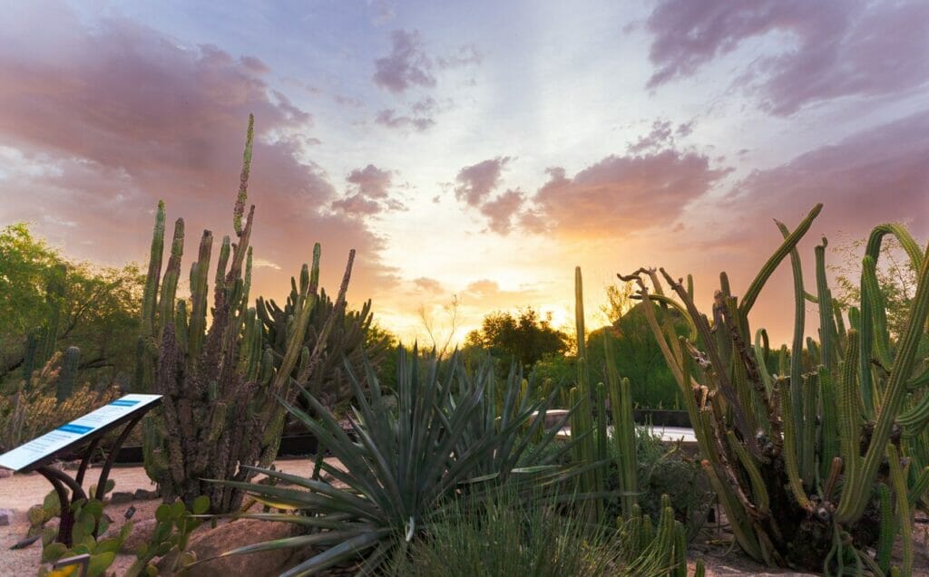
[[[68,547],[54,541],[56,530],[46,529],[42,537],[43,563],[54,563],[60,558],[87,554],[90,556],[87,577],[105,575],[125,538],[132,532],[132,522],[127,521],[116,536],[98,540],[97,535],[106,532],[110,525],[110,521],[103,514],[103,503],[96,499],[82,499],[72,504],[72,511],[74,514],[72,546]],[[39,569],[40,577],[48,574],[49,570],[46,567]]]

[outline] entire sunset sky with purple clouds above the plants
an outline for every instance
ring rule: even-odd
[[[708,308],[818,202],[810,285],[822,237],[929,237],[923,1],[5,6],[0,225],[75,259],[146,263],[159,199],[188,266],[231,234],[250,113],[255,292],[317,241],[332,292],[354,248],[349,301],[405,341],[529,306],[567,326],[576,265],[591,323],[640,266]],[[752,313],[776,341],[788,268]]]

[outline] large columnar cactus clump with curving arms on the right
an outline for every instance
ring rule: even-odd
[[[784,241],[740,302],[724,274],[710,315],[700,314],[692,288],[664,269],[661,277],[680,303],[664,296],[654,269],[620,277],[635,280],[641,298],[686,311],[694,327],[694,338],[678,339],[645,308],[684,392],[702,466],[739,545],[769,564],[827,574],[849,568],[886,574],[894,534],[909,540],[912,507],[929,487],[923,432],[929,424],[929,371],[915,358],[929,314],[929,259],[903,228],[875,228],[863,259],[861,306],[849,311],[846,327],[827,283],[825,239],[815,250],[815,294],[805,288],[796,250],[820,210],[817,205],[793,231],[778,223]],[[909,327],[896,342],[887,332],[875,273],[886,235],[897,237],[919,271]],[[763,329],[752,339],[749,313],[788,255],[792,346],[772,353]],[[816,340],[805,338],[806,301],[818,305]],[[778,375],[767,369],[775,355]],[[901,464],[901,452],[909,467]],[[889,480],[882,472],[887,470]],[[871,546],[877,548],[873,558]],[[911,569],[911,549],[905,549],[901,571]]]

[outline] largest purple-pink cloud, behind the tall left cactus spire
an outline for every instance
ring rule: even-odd
[[[256,59],[178,45],[124,19],[88,28],[66,8],[43,16],[43,29],[54,33],[41,46],[24,32],[32,24],[22,24],[0,24],[0,135],[47,169],[0,183],[7,191],[0,218],[41,223],[46,213],[74,222],[71,229],[39,224],[38,232],[69,252],[89,241],[77,258],[119,263],[145,258],[152,209],[165,199],[170,221],[185,217],[187,252],[195,254],[200,229],[214,230],[217,242],[231,231],[254,112],[255,257],[282,269],[263,267],[256,293],[286,286],[281,279],[308,260],[314,240],[333,263],[359,250],[355,286],[389,282],[378,261],[382,240],[328,212],[334,187],[305,160],[310,115],[269,89]],[[337,268],[324,279],[340,276]]]

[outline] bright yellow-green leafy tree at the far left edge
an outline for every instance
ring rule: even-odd
[[[131,365],[140,289],[133,264],[74,263],[33,237],[27,224],[8,225],[0,231],[0,381],[20,367],[28,379],[51,353],[76,346],[85,378],[112,382]],[[30,348],[40,339],[45,353]],[[31,353],[40,353],[33,363]]]

